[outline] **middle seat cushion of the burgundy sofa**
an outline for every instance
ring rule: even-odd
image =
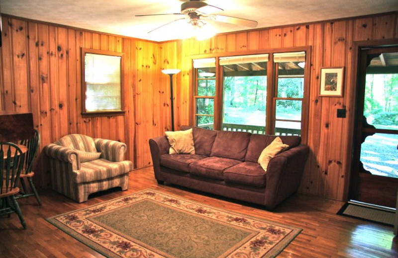
[[[235,159],[209,157],[192,162],[190,164],[190,173],[206,178],[223,180],[223,171],[239,163],[241,162]]]

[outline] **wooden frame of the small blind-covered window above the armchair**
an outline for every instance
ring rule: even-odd
[[[85,57],[86,54],[95,54],[95,55],[104,55],[104,56],[114,56],[120,57],[120,108],[121,110],[113,110],[113,111],[86,111],[86,67],[85,67]],[[89,49],[89,48],[81,48],[81,72],[82,72],[82,117],[106,117],[106,116],[122,116],[125,114],[124,111],[124,96],[123,96],[123,70],[124,70],[124,62],[123,62],[123,53],[99,50],[99,49]]]

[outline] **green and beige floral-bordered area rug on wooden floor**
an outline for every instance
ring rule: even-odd
[[[108,258],[271,258],[301,231],[153,189],[47,220]]]

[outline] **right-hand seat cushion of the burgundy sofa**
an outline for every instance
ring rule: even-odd
[[[258,163],[242,162],[224,170],[224,180],[227,183],[264,187],[266,173]]]

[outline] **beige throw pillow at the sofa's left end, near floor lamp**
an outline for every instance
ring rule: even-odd
[[[166,131],[165,133],[171,145],[169,154],[195,154],[192,128],[186,131]]]

